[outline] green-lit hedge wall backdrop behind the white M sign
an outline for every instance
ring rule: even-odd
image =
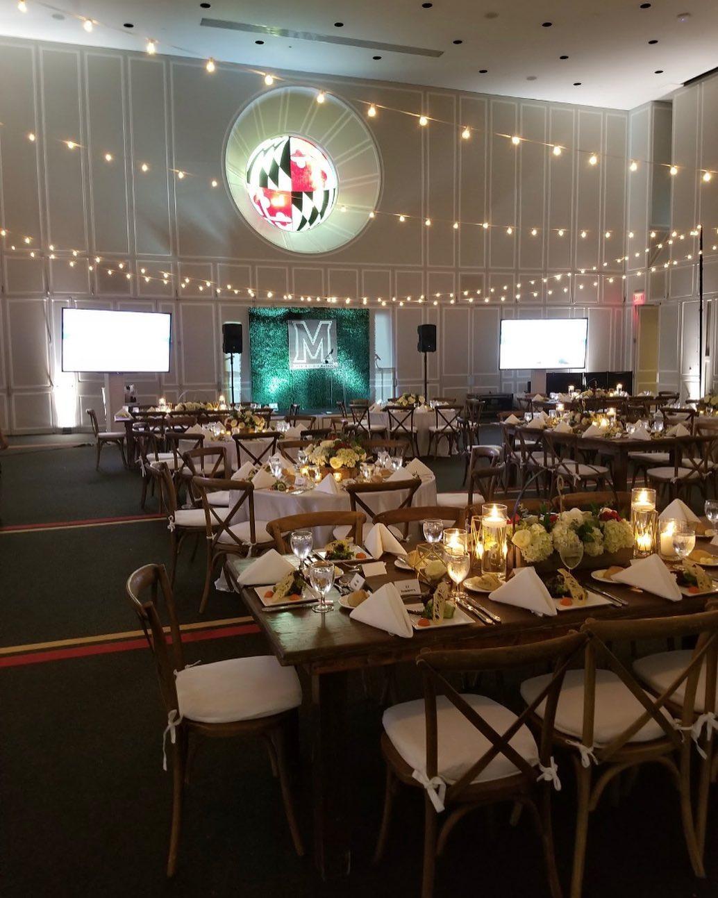
[[[290,371],[287,321],[336,321],[334,402],[369,397],[369,312],[366,309],[250,309],[252,401],[285,408],[330,409],[330,374],[324,369]]]

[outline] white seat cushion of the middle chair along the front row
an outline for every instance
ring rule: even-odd
[[[521,683],[523,700],[530,704],[550,680],[551,674],[541,674]],[[539,717],[546,708],[546,699],[538,705]],[[593,720],[593,742],[605,745],[644,713],[644,706],[621,682],[613,671],[596,671],[596,707]],[[666,715],[668,717],[668,715]],[[574,739],[583,733],[583,671],[568,671],[564,678],[556,709],[556,730]],[[650,742],[664,735],[661,726],[651,719],[630,741]]]

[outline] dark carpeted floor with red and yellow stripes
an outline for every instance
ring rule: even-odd
[[[152,658],[141,640],[128,635],[136,630],[136,620],[124,594],[133,569],[168,560],[166,525],[148,519],[67,527],[71,521],[139,516],[139,479],[124,471],[118,453],[110,450],[103,453],[100,472],[94,470],[92,447],[13,449],[4,453],[2,465],[0,894],[417,895],[422,805],[416,793],[398,800],[381,867],[369,863],[383,789],[381,708],[365,698],[360,683],[351,697],[351,753],[337,758],[356,785],[352,876],[325,885],[314,873],[310,740],[304,719],[297,788],[306,857],[293,854],[264,750],[253,743],[216,740],[197,754],[179,872],[171,884],[166,882],[171,779],[162,772],[162,708]],[[459,486],[462,471],[455,462],[437,462],[435,468],[441,489]],[[57,522],[65,526],[28,526]],[[188,550],[180,558],[182,624],[200,621],[202,551],[194,562]],[[223,621],[246,614],[238,597],[213,593],[205,627],[188,631],[197,638],[188,642],[188,661],[267,651],[251,621],[223,629]],[[400,689],[403,698],[419,694],[411,665],[400,671]],[[505,692],[496,691],[493,681],[486,689],[510,704],[518,700],[511,683]],[[566,879],[574,788],[567,763],[563,770],[555,821]],[[584,894],[718,894],[715,800],[714,794],[706,850],[709,878],[699,881],[688,865],[675,791],[660,769],[644,770],[630,795],[617,806],[607,797],[591,820]],[[530,820],[524,815],[512,828],[508,812],[498,807],[491,816],[470,815],[457,827],[440,862],[437,896],[547,894]]]

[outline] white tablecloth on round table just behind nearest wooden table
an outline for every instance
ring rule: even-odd
[[[235,492],[230,493],[230,507],[237,501],[239,495]],[[382,511],[390,511],[391,508],[398,508],[406,497],[406,490],[402,490],[401,492],[363,496],[362,501],[372,508],[374,514],[379,514]],[[426,475],[422,479],[421,486],[414,494],[412,505],[436,505],[436,478],[433,474]],[[240,515],[235,518],[233,524],[247,520],[245,506],[241,507]],[[339,496],[330,496],[328,493],[318,492],[316,489],[298,495],[277,492],[276,489],[256,489],[254,492],[254,518],[256,521],[274,521],[277,517],[286,515],[306,515],[315,511],[335,510],[349,511],[349,497],[345,492]],[[332,538],[331,530],[331,527],[315,527],[314,545],[318,548],[326,545]]]

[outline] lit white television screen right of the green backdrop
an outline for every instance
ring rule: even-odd
[[[504,318],[499,368],[584,368],[588,318]]]

